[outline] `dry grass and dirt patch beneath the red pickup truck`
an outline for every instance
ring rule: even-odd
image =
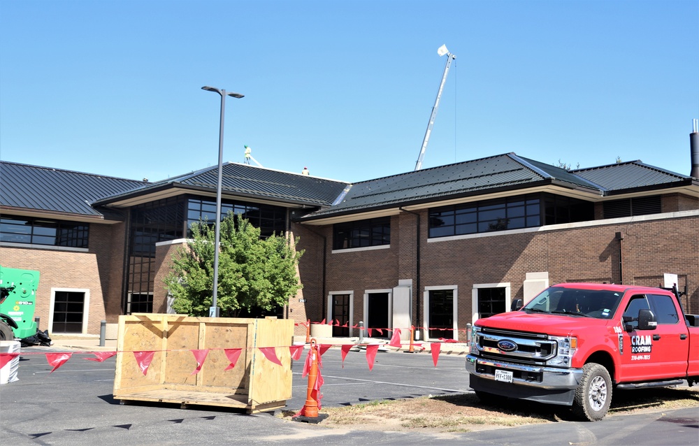
[[[699,388],[616,391],[607,417],[642,411],[699,408]],[[474,394],[373,401],[343,408],[322,408],[322,426],[352,430],[468,432],[524,424],[576,421],[565,406],[507,400],[482,403]],[[293,412],[282,412],[291,419]]]

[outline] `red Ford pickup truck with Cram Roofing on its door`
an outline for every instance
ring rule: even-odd
[[[478,319],[466,357],[477,396],[572,405],[603,419],[613,389],[699,383],[699,316],[677,289],[565,283]]]

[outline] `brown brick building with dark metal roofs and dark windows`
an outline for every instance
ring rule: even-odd
[[[2,162],[0,265],[41,272],[41,329],[94,334],[101,319],[168,311],[170,255],[191,222],[214,220],[216,171],[151,183]],[[300,238],[303,289],[282,317],[348,322],[334,336],[362,321],[463,338],[556,282],[657,286],[671,273],[699,312],[692,173],[566,171],[509,153],[349,184],[229,163],[223,212]]]

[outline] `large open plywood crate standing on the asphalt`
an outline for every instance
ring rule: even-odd
[[[291,398],[292,319],[188,317],[141,313],[119,317],[114,398],[239,408],[247,413],[283,408]],[[259,347],[277,347],[282,366]],[[240,348],[236,366],[224,349]],[[209,349],[201,371],[192,375],[191,350]],[[147,374],[133,352],[154,351]]]

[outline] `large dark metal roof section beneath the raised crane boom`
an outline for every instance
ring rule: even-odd
[[[311,213],[301,220],[553,182],[562,187],[600,191],[600,187],[589,180],[563,168],[508,153],[359,182],[331,208]]]

